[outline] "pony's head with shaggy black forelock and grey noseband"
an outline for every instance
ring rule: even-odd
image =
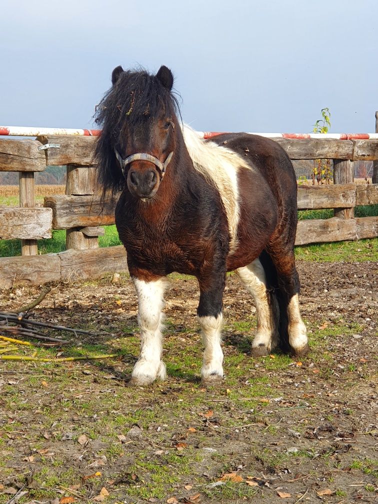
[[[95,151],[99,182],[113,193],[127,183],[133,196],[146,200],[158,191],[176,146],[173,75],[164,66],[156,75],[116,67],[111,82],[95,113],[102,128]]]

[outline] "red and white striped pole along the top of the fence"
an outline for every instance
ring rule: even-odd
[[[0,136],[10,137],[38,137],[38,135],[82,135],[98,137],[101,130],[72,129],[72,128],[34,128],[28,126],[0,126]],[[226,132],[197,132],[203,138],[212,138]],[[334,140],[378,140],[378,133],[251,133],[266,138],[309,139],[324,138]]]

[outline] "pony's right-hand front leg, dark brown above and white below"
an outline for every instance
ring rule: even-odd
[[[200,279],[200,303],[197,318],[202,329],[202,339],[205,346],[204,360],[201,369],[202,380],[212,385],[223,378],[223,352],[221,348],[221,328],[223,322],[222,299],[224,290],[224,274],[212,279],[209,289],[208,282]]]

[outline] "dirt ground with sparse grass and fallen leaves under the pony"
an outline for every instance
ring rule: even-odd
[[[255,310],[232,275],[218,389],[199,381],[195,280],[171,279],[168,380],[149,389],[127,387],[139,348],[131,281],[55,286],[34,318],[102,332],[38,355],[119,357],[0,361],[0,502],[373,502],[377,265],[302,261],[298,269],[311,352],[301,362],[279,352],[251,358]],[[0,293],[0,309],[37,294]]]

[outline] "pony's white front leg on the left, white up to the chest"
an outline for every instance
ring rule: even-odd
[[[162,313],[166,279],[145,282],[133,278],[138,294],[138,324],[141,331],[141,353],[134,366],[132,378],[137,384],[149,385],[157,378],[165,380],[162,351]]]

